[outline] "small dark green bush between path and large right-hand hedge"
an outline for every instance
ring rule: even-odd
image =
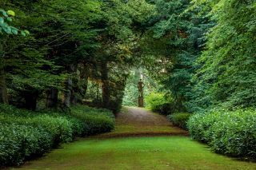
[[[190,116],[190,113],[174,113],[172,115],[168,115],[167,119],[175,126],[187,129],[186,122],[189,120]]]

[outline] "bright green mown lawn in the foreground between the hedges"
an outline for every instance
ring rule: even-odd
[[[215,154],[184,136],[87,139],[62,147],[21,169],[256,169],[255,163]]]

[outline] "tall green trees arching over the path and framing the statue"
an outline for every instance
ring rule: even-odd
[[[136,81],[128,77],[143,69],[183,111],[255,106],[253,0],[0,5],[4,102],[27,109],[81,102],[118,111],[126,84]]]

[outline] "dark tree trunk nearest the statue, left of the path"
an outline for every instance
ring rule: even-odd
[[[101,73],[102,73],[102,106],[109,108],[110,104],[110,83],[108,75],[107,62],[102,62]]]

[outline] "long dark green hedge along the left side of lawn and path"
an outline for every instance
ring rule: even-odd
[[[0,166],[22,164],[75,136],[110,132],[114,115],[105,109],[77,106],[70,114],[31,112],[0,105]]]

